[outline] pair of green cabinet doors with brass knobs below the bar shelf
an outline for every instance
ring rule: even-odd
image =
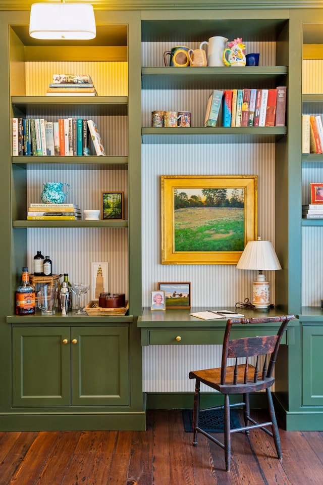
[[[13,328],[13,406],[127,406],[127,326]]]

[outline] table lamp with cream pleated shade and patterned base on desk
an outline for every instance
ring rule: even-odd
[[[270,283],[265,281],[262,271],[282,269],[271,241],[249,241],[239,259],[237,269],[258,270],[259,274],[252,281],[252,304],[256,310],[268,311],[270,307]]]

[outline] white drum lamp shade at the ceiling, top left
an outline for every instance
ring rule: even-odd
[[[35,39],[93,39],[96,36],[93,7],[80,3],[32,4],[29,35]]]

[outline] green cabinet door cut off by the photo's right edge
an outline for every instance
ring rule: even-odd
[[[303,406],[323,406],[323,379],[321,358],[323,327],[302,328]]]

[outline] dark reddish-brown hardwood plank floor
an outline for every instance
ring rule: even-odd
[[[201,434],[192,446],[180,410],[148,411],[147,431],[0,432],[0,485],[322,485],[323,432],[280,436],[282,461],[264,432],[234,434],[226,472],[221,448]]]

